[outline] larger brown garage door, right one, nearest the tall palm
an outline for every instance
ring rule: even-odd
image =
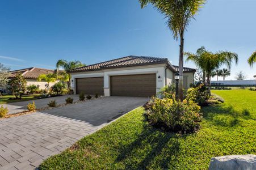
[[[156,74],[111,76],[111,96],[156,95]]]

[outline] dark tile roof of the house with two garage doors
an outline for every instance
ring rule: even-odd
[[[83,72],[83,71],[95,71],[95,70],[102,70],[102,69],[114,69],[114,68],[121,68],[121,67],[132,67],[132,66],[144,66],[144,65],[154,65],[154,64],[161,64],[166,63],[167,66],[172,71],[178,71],[178,66],[173,66],[168,61],[167,58],[159,58],[159,57],[145,57],[145,56],[127,56],[121,57],[117,59],[112,59],[106,62],[96,63],[94,65],[79,67],[77,69],[69,70],[70,73],[74,72]],[[195,69],[191,69],[188,67],[183,68],[184,72],[195,72]]]

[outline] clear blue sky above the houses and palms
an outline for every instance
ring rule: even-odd
[[[239,56],[227,79],[244,71],[253,79],[256,65],[246,60],[256,50],[255,0],[209,0],[185,34],[184,50],[205,46]],[[0,63],[12,70],[54,69],[58,59],[86,63],[129,55],[167,57],[178,65],[179,41],[152,6],[137,0],[0,1]],[[193,63],[185,66],[195,67]]]

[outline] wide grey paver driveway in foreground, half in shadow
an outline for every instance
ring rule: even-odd
[[[145,97],[104,97],[0,121],[0,169],[35,169],[82,137],[146,103]]]

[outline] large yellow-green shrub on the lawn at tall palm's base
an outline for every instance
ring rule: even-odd
[[[191,133],[199,129],[202,115],[200,107],[192,100],[152,98],[145,113],[149,123],[175,133]]]

